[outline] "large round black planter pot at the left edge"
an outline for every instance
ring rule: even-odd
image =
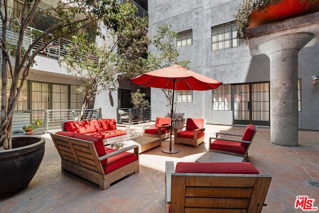
[[[44,156],[42,137],[12,137],[12,149],[0,151],[0,198],[24,190]]]

